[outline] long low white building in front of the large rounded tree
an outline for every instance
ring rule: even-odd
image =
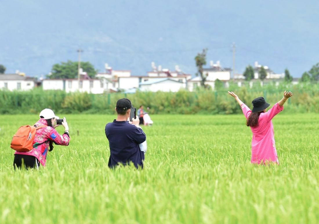
[[[100,94],[104,93],[103,82],[100,79],[44,79],[43,90],[64,90],[67,93],[86,92]]]

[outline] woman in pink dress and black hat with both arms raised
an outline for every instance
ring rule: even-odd
[[[267,103],[263,97],[254,99],[252,101],[253,109],[250,110],[235,93],[228,92],[228,94],[234,97],[241,106],[242,112],[247,120],[246,125],[249,126],[253,132],[250,162],[256,164],[276,162],[279,164],[271,119],[284,109],[284,103],[293,93],[285,91],[284,97],[267,112],[266,108],[268,108],[270,104]]]

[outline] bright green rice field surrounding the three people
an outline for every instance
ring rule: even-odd
[[[250,164],[243,115],[153,115],[145,169],[115,171],[115,116],[66,118],[70,146],[14,171],[12,135],[37,116],[0,115],[0,223],[319,223],[318,114],[273,119],[279,166]]]

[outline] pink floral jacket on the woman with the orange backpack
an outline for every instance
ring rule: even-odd
[[[48,123],[45,119],[40,118],[40,120],[37,121],[37,123],[35,123],[34,125],[36,127],[39,127],[43,125],[48,125]],[[35,137],[33,140],[33,149],[31,149],[28,152],[15,152],[14,154],[34,156],[39,160],[42,166],[45,167],[50,140],[53,141],[56,145],[68,146],[70,137],[68,134],[65,133],[63,135],[59,135],[59,133],[50,126],[39,128],[35,132]]]

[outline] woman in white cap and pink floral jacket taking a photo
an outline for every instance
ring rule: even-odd
[[[69,145],[69,126],[65,117],[62,122],[65,131],[62,135],[55,130],[59,126],[55,125],[56,119],[59,119],[59,117],[55,116],[51,109],[46,108],[42,110],[39,117],[40,119],[34,124],[34,127],[43,127],[36,130],[33,149],[27,152],[15,152],[14,168],[21,168],[22,164],[26,168],[39,168],[40,163],[42,166],[45,166],[47,153],[53,150],[53,142],[61,146]]]

